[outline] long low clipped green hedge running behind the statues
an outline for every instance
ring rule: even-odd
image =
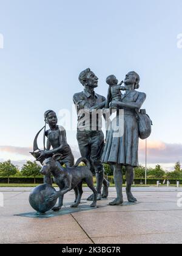
[[[113,176],[108,176],[108,180],[110,183],[114,183]],[[157,181],[160,181],[160,183],[163,183],[164,179],[147,179],[147,184],[148,185],[155,185],[157,184]],[[93,181],[96,182],[95,177],[93,177]],[[182,184],[182,179],[169,179],[170,185],[175,185],[177,184],[177,181]],[[35,182],[37,184],[42,184],[44,183],[44,178],[43,177],[36,177]],[[145,183],[144,179],[135,179],[134,180],[136,185],[140,185],[142,182],[143,184]],[[166,180],[167,182],[167,180]],[[8,178],[7,177],[0,177],[0,183],[8,183]],[[14,184],[33,184],[34,183],[34,178],[33,177],[10,177],[10,183]],[[126,183],[126,179],[123,180],[123,183]]]

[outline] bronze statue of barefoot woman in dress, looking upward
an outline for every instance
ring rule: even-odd
[[[136,110],[140,110],[146,99],[145,93],[136,91],[140,87],[139,83],[140,76],[138,74],[134,71],[128,73],[124,80],[126,93],[123,94],[121,101],[113,101],[110,104],[110,108],[124,110],[124,134],[122,137],[115,137],[115,131],[112,128],[107,132],[106,146],[102,157],[102,162],[113,165],[114,169],[117,198],[110,202],[110,205],[123,204],[123,166],[126,166],[127,199],[129,202],[137,201],[131,192],[134,168],[138,166],[139,131]],[[114,119],[112,123],[115,121]]]

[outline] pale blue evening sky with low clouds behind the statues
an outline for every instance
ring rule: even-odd
[[[78,75],[90,67],[104,96],[110,74],[140,74],[153,121],[147,164],[182,162],[181,9],[181,0],[0,0],[0,161],[32,159],[45,110],[74,112],[73,94],[83,90]],[[67,140],[77,156],[76,121],[72,128]]]

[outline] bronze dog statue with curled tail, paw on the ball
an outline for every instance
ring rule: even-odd
[[[61,158],[60,154],[56,154],[53,157],[47,158],[44,160],[41,174],[47,175],[52,174],[53,180],[58,185],[59,191],[47,198],[47,201],[53,201],[59,198],[58,207],[54,207],[53,211],[61,210],[64,194],[70,190],[75,190],[75,203],[71,207],[78,207],[81,196],[83,194],[83,182],[86,182],[88,187],[93,191],[94,198],[93,203],[90,207],[96,206],[96,189],[93,185],[93,176],[90,171],[90,163],[86,158],[79,158],[73,167],[62,167],[58,162]],[[86,166],[78,166],[79,163],[84,162]]]

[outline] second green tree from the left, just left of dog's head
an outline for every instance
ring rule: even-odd
[[[21,169],[21,174],[22,176],[27,176],[27,177],[34,177],[34,183],[35,183],[35,178],[36,176],[40,175],[40,170],[41,170],[41,166],[38,165],[38,163],[35,162],[31,162],[31,161],[27,161],[27,163],[22,166]]]

